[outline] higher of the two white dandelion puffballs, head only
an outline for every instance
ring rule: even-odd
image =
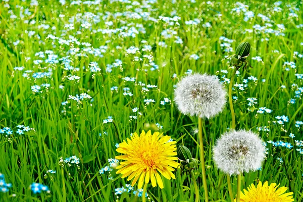
[[[217,76],[196,73],[177,83],[174,100],[182,114],[209,119],[223,110],[226,90]]]

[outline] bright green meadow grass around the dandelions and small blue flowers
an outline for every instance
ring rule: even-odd
[[[277,183],[286,186],[288,191],[292,191],[295,201],[303,198],[302,180],[302,156],[295,146],[294,139],[301,140],[302,132],[295,127],[295,121],[303,121],[302,99],[296,98],[295,104],[288,104],[288,100],[293,98],[296,90],[292,84],[302,87],[302,79],[297,79],[295,73],[302,74],[303,64],[301,58],[293,58],[293,52],[303,54],[302,28],[297,28],[302,22],[302,4],[296,7],[295,11],[298,19],[288,18],[290,11],[285,3],[280,6],[283,11],[273,13],[271,1],[261,3],[252,1],[249,9],[255,13],[255,17],[243,21],[243,14],[237,16],[231,13],[235,8],[232,1],[214,2],[214,6],[206,3],[190,3],[180,1],[172,4],[171,1],[161,1],[149,4],[151,8],[143,9],[150,12],[150,16],[158,19],[159,16],[170,16],[175,11],[181,17],[178,25],[168,26],[163,21],[153,22],[143,19],[130,19],[125,16],[114,19],[112,16],[105,17],[106,12],[135,12],[133,6],[123,3],[109,3],[104,1],[98,5],[71,5],[62,6],[57,1],[40,2],[38,6],[30,6],[30,2],[11,1],[10,9],[5,8],[5,2],[0,3],[0,128],[11,127],[14,134],[6,137],[0,134],[0,173],[3,173],[7,183],[12,183],[12,188],[7,193],[0,192],[2,201],[116,201],[115,188],[124,186],[126,179],[121,179],[115,172],[111,172],[113,180],[109,180],[110,175],[99,174],[99,170],[109,166],[108,159],[118,155],[115,144],[122,142],[133,132],[151,129],[158,130],[156,123],[160,123],[163,129],[159,131],[170,135],[177,141],[178,145],[186,145],[195,158],[199,159],[197,134],[192,132],[193,127],[197,127],[198,120],[195,117],[188,117],[180,114],[176,105],[161,105],[161,100],[168,97],[173,100],[174,85],[178,78],[185,75],[188,69],[193,72],[216,74],[220,78],[223,75],[220,70],[228,70],[226,78],[230,78],[232,69],[229,69],[227,60],[224,58],[233,54],[225,53],[220,44],[220,36],[232,39],[231,46],[235,50],[242,41],[249,41],[251,44],[248,61],[253,68],[247,71],[240,70],[240,74],[235,77],[234,83],[243,83],[243,79],[254,76],[256,82],[248,81],[248,86],[241,91],[234,87],[233,96],[238,100],[234,101],[236,114],[236,129],[251,129],[260,133],[264,141],[285,141],[294,145],[287,149],[273,147],[270,144],[267,159],[262,167],[262,171],[245,173],[242,177],[242,189],[258,180],[269,183]],[[229,4],[228,4],[229,3]],[[290,3],[295,5],[294,3]],[[19,5],[19,8],[16,6]],[[127,6],[128,5],[128,6]],[[20,7],[29,8],[30,15],[20,18]],[[153,10],[157,9],[157,10]],[[11,19],[11,13],[18,16]],[[119,36],[118,33],[112,35],[103,34],[89,29],[80,29],[82,23],[76,22],[74,30],[67,30],[65,24],[69,24],[69,19],[76,19],[77,14],[91,12],[100,15],[100,22],[92,23],[91,29],[106,29],[105,22],[113,22],[112,29],[121,26],[136,26],[142,24],[146,33],[138,33],[135,37]],[[222,17],[215,16],[218,13]],[[140,13],[140,12],[139,12]],[[266,33],[243,34],[245,29],[252,29],[255,24],[264,26],[258,13],[271,15],[273,29],[277,30],[276,24],[285,25],[285,36],[275,36]],[[64,17],[59,17],[64,14]],[[199,18],[201,23],[186,25],[185,21]],[[33,22],[24,23],[24,20]],[[34,22],[35,21],[35,22]],[[127,23],[123,24],[122,21]],[[129,24],[133,22],[134,24]],[[202,25],[210,22],[212,27],[205,28]],[[41,24],[50,25],[46,30],[38,28]],[[52,30],[52,27],[56,29]],[[177,31],[176,36],[183,40],[183,44],[175,43],[175,38],[165,39],[161,32],[168,27]],[[138,28],[137,28],[138,29]],[[27,30],[27,31],[26,31]],[[67,30],[67,31],[66,31]],[[35,31],[34,36],[29,37],[28,31]],[[76,32],[80,31],[79,34]],[[66,33],[66,35],[62,35]],[[39,35],[40,39],[36,37]],[[87,54],[87,56],[71,56],[71,66],[80,68],[79,71],[66,71],[62,61],[58,64],[47,64],[45,62],[35,65],[34,60],[45,60],[35,56],[37,52],[51,50],[59,58],[67,56],[71,45],[60,45],[58,40],[46,39],[48,34],[52,34],[63,39],[68,39],[69,35],[74,36],[80,42],[88,42],[92,47],[107,45],[104,57],[100,58]],[[261,40],[268,38],[269,40]],[[13,42],[20,40],[18,45]],[[110,41],[108,41],[110,40]],[[151,45],[150,52],[140,52],[135,55],[126,55],[125,49],[136,46],[141,49],[145,44]],[[53,42],[54,41],[54,42]],[[108,41],[106,43],[106,41]],[[158,45],[159,41],[165,41],[167,47]],[[52,44],[53,42],[53,44]],[[121,46],[121,49],[116,46]],[[76,45],[78,47],[78,45]],[[80,46],[82,47],[82,45]],[[273,51],[277,50],[278,53]],[[80,52],[79,52],[80,53]],[[84,52],[82,52],[84,53]],[[159,65],[159,70],[149,70],[151,66],[148,59],[142,57],[144,54],[152,55],[155,64]],[[197,54],[198,60],[190,59],[190,55]],[[45,56],[47,54],[44,54]],[[134,56],[142,58],[142,61],[134,61]],[[252,57],[260,56],[263,63],[252,60]],[[26,59],[30,57],[30,59]],[[113,68],[111,73],[106,72],[108,64],[113,64],[116,59],[123,62],[122,69]],[[289,68],[285,71],[284,62],[294,62],[295,69]],[[86,68],[90,62],[97,62],[102,70],[94,75],[82,69]],[[24,67],[22,71],[15,71],[14,67]],[[46,68],[46,69],[44,69]],[[52,76],[34,79],[32,73],[29,78],[22,76],[25,70],[33,72],[45,72],[52,69]],[[147,69],[147,71],[144,71]],[[173,77],[173,74],[177,78]],[[80,77],[79,82],[64,79],[67,75],[73,74]],[[122,78],[135,77],[136,82],[124,81]],[[262,82],[262,79],[266,79]],[[142,83],[157,85],[157,88],[149,88],[144,92],[138,85]],[[49,83],[51,86],[42,93],[33,94],[31,86]],[[64,89],[59,86],[64,85]],[[285,85],[286,88],[281,88]],[[112,91],[112,86],[118,86],[118,92]],[[124,96],[123,88],[129,87],[133,96]],[[146,87],[146,86],[145,86]],[[226,85],[226,88],[228,86]],[[84,101],[77,105],[71,101],[66,106],[61,103],[68,99],[68,95],[87,93],[93,98],[93,102]],[[273,110],[272,113],[258,114],[257,110],[249,112],[248,97],[258,98],[256,108],[266,107]],[[144,99],[155,99],[155,103],[145,105]],[[90,106],[91,104],[91,106]],[[65,108],[64,108],[65,107]],[[142,115],[132,112],[137,107]],[[62,113],[66,110],[66,113]],[[289,122],[284,125],[275,124],[276,116],[288,116]],[[113,117],[113,123],[104,124],[103,120],[108,116]],[[137,116],[137,119],[130,121],[129,116]],[[34,128],[30,132],[17,135],[16,126],[22,124]],[[259,132],[257,127],[268,126],[270,132]],[[209,197],[211,201],[229,201],[227,180],[212,161],[212,148],[218,137],[231,128],[231,114],[229,106],[217,117],[206,120],[204,128],[205,137],[205,158],[207,165],[207,182]],[[103,134],[107,132],[108,135]],[[99,133],[102,136],[99,136]],[[295,134],[295,138],[289,137],[290,133]],[[64,167],[59,165],[60,157],[63,159],[70,156],[77,156],[80,159],[80,169],[74,167]],[[279,163],[277,158],[282,158],[283,163]],[[46,171],[56,170],[53,177],[44,179]],[[203,200],[204,190],[201,180],[201,169],[195,170],[197,183],[200,189],[200,198]],[[163,178],[164,189],[159,187],[147,187],[147,193],[151,201],[194,201],[194,187],[190,178],[181,173],[180,169],[175,172],[175,180]],[[236,177],[232,176],[234,195],[236,194]],[[42,183],[49,187],[51,193],[33,194],[29,188],[32,182]],[[136,186],[135,186],[136,190]],[[15,196],[12,196],[15,194]],[[119,201],[141,201],[132,193],[119,195]]]

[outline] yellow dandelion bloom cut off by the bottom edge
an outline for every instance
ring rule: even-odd
[[[259,182],[257,187],[251,184],[247,190],[244,189],[244,194],[241,192],[241,202],[291,202],[293,192],[284,193],[287,187],[282,186],[278,188],[280,184],[271,183],[268,186],[266,181],[263,185]],[[277,189],[278,188],[278,189]]]

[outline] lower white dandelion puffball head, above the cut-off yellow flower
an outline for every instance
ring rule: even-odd
[[[217,167],[226,174],[240,174],[261,168],[265,146],[251,131],[232,130],[223,134],[213,148]]]

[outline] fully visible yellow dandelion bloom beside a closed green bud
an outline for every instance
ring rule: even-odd
[[[179,166],[179,163],[175,162],[178,160],[175,157],[176,141],[169,141],[171,137],[162,134],[155,132],[151,135],[150,130],[146,134],[142,131],[140,136],[134,133],[131,139],[127,138],[127,142],[123,140],[116,149],[123,155],[117,156],[116,159],[124,161],[117,167],[116,173],[122,174],[122,178],[128,177],[127,180],[133,179],[132,186],[139,180],[139,189],[144,182],[147,184],[149,181],[153,187],[158,183],[162,189],[160,174],[167,179],[175,179],[172,171]]]

